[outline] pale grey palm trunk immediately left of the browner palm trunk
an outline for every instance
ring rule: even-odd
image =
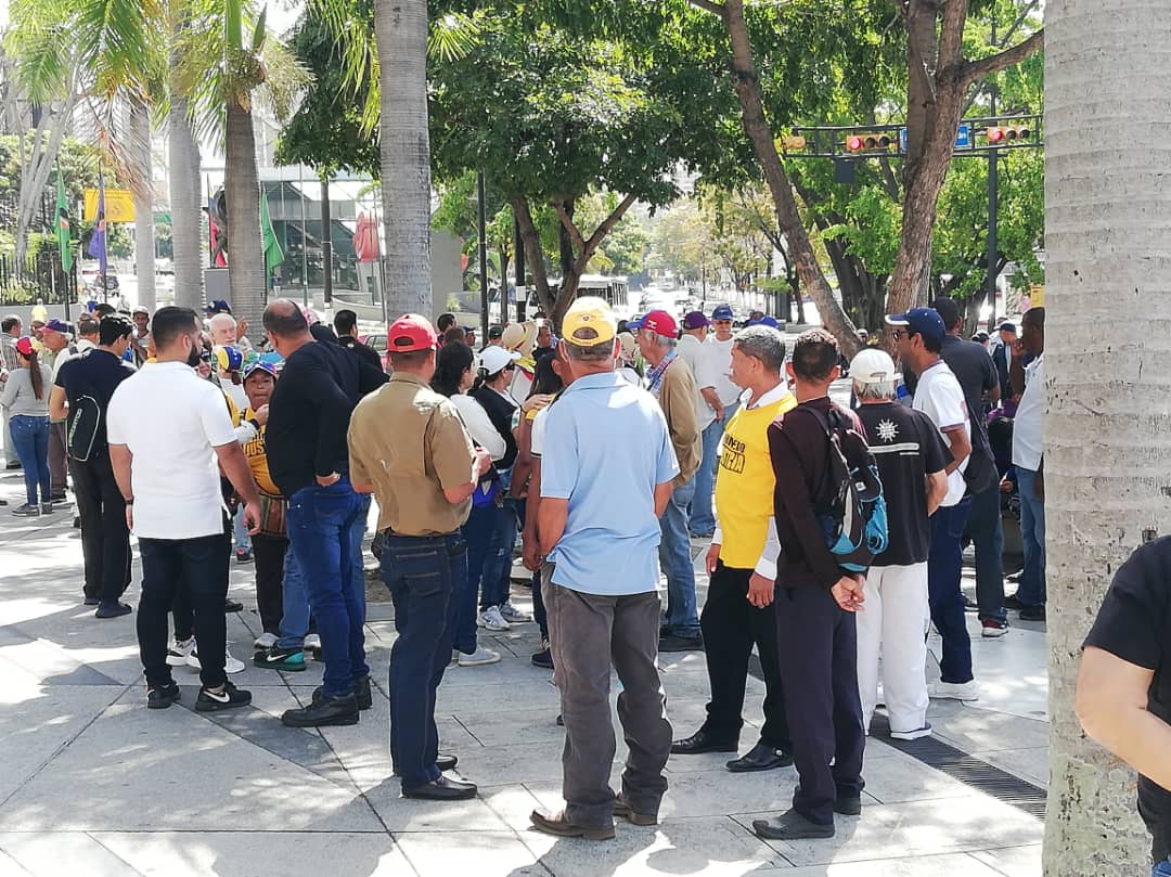
[[[174,303],[200,308],[204,303],[204,247],[199,183],[199,145],[187,119],[187,103],[171,95],[167,122],[171,187],[171,242],[174,249]]]

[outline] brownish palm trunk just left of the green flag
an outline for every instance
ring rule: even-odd
[[[268,303],[265,247],[260,237],[260,183],[252,114],[228,101],[224,137],[224,197],[227,201],[227,283],[232,313],[260,326]]]

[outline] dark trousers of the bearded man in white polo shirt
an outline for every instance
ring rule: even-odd
[[[146,685],[171,681],[166,663],[166,614],[178,592],[185,592],[198,631],[200,681],[214,688],[225,683],[224,652],[227,622],[227,556],[231,536],[217,534],[198,539],[139,539],[143,555],[143,589],[138,601],[138,652],[146,671]]]

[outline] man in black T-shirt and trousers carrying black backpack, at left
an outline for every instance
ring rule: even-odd
[[[49,414],[68,418],[67,450],[81,518],[81,550],[85,567],[85,605],[96,617],[116,618],[130,611],[121,602],[130,585],[130,529],[126,502],[114,480],[105,411],[115,389],[135,374],[122,357],[135,326],[124,316],[102,318],[98,345],[61,364],[49,396]]]

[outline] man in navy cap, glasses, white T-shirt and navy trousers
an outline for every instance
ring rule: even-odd
[[[943,637],[939,662],[940,681],[932,697],[978,700],[972,676],[972,640],[964,618],[960,590],[963,547],[960,539],[972,506],[964,471],[972,454],[972,426],[964,390],[940,357],[944,345],[943,317],[931,308],[916,308],[886,317],[896,327],[895,340],[903,366],[919,376],[913,407],[923,411],[939,430],[951,452],[946,466],[947,493],[931,516],[931,547],[927,553],[927,587],[931,621]]]

